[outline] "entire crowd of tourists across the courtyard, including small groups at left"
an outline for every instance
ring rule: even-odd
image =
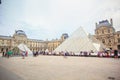
[[[119,50],[109,50],[109,51],[99,51],[99,52],[87,52],[87,51],[80,51],[79,53],[74,52],[68,52],[68,51],[61,51],[61,52],[50,52],[50,51],[33,51],[33,56],[37,57],[38,55],[55,55],[55,56],[84,56],[84,57],[114,57],[119,58],[120,57],[120,51]],[[6,53],[2,53],[3,57],[11,57],[14,56],[14,53],[12,50],[7,51]],[[21,51],[20,56],[24,59],[28,56],[27,51]]]

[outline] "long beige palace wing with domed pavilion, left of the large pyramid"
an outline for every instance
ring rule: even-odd
[[[0,52],[8,51],[17,47],[19,44],[24,43],[27,45],[31,51],[46,50],[53,51],[57,46],[59,46],[66,36],[63,34],[61,39],[55,39],[51,41],[43,41],[38,39],[29,39],[27,35],[22,30],[15,31],[13,36],[3,36],[0,35]]]

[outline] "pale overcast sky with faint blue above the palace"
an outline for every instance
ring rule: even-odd
[[[95,23],[113,19],[120,30],[120,0],[1,0],[0,35],[25,31],[28,38],[56,39],[82,26],[94,34]]]

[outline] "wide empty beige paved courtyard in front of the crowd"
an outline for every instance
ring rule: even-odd
[[[120,59],[0,56],[0,80],[120,80]]]

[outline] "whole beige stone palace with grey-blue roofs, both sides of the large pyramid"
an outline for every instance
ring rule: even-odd
[[[112,19],[110,19],[110,21],[102,20],[96,23],[95,34],[93,36],[101,41],[107,48],[120,50],[120,31],[115,30]],[[29,39],[23,30],[17,30],[13,36],[0,35],[0,52],[16,48],[21,43],[27,45],[31,51],[46,49],[53,51],[66,38],[68,38],[67,33],[62,34],[60,39],[50,41]]]

